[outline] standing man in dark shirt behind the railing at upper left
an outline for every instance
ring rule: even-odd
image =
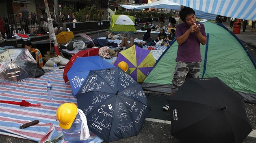
[[[29,17],[29,12],[26,8],[24,8],[24,3],[20,3],[20,14],[22,15],[22,22],[21,24],[23,25],[23,28],[26,32],[26,34],[29,34],[29,29],[28,29],[28,24],[29,24],[29,20],[28,20],[28,17]]]

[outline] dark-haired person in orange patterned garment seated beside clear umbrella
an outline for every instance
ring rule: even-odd
[[[30,41],[24,41],[22,43],[22,48],[28,49],[30,54],[33,56],[33,58],[37,62],[37,65],[39,68],[43,67],[43,57],[40,53],[40,50],[38,50],[37,48],[34,48],[34,46],[32,45],[32,43]]]

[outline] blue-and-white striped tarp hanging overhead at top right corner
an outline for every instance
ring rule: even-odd
[[[238,19],[256,20],[256,0],[171,0],[193,9],[234,17]]]

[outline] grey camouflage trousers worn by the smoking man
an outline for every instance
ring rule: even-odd
[[[175,93],[186,78],[199,78],[201,62],[177,61],[171,91]]]

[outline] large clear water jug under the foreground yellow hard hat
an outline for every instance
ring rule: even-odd
[[[85,142],[85,140],[80,140],[81,128],[82,128],[82,120],[80,118],[80,115],[77,114],[76,119],[74,120],[71,127],[67,130],[62,129],[64,141],[67,143]]]

